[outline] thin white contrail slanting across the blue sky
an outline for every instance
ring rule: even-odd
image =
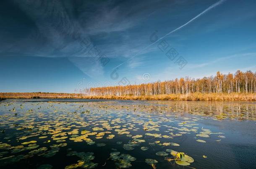
[[[154,43],[146,46],[145,48],[143,48],[142,50],[140,50],[138,53],[136,53],[133,57],[129,58],[127,61],[121,63],[120,65],[116,66],[115,68],[118,68],[119,66],[123,65],[124,63],[130,61],[131,59],[133,59],[134,57],[136,57],[139,53],[141,53],[141,51],[145,50],[146,48],[149,48],[150,46],[154,45],[155,43],[159,42],[159,40],[162,40],[163,38],[165,38],[166,36],[170,35],[171,33],[176,32],[177,30],[183,28],[184,26],[188,25],[189,23],[191,23],[193,20],[196,20],[197,18],[199,18],[201,15],[203,15],[204,13],[208,12],[209,10],[211,10],[214,7],[217,7],[218,5],[222,4],[224,1],[226,0],[220,0],[217,3],[214,3],[213,5],[209,6],[206,10],[204,10],[203,12],[199,13],[198,15],[196,15],[194,18],[192,18],[191,20],[189,20],[187,23],[181,25],[180,27],[176,28],[175,30],[172,30],[171,32],[167,33],[166,35],[162,36],[161,38],[159,38],[157,41],[155,41]],[[115,69],[113,68],[113,69]]]

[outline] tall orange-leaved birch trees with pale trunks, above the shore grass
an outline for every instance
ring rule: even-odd
[[[204,78],[176,78],[154,83],[88,88],[84,96],[153,96],[189,93],[256,93],[256,73],[236,71]]]

